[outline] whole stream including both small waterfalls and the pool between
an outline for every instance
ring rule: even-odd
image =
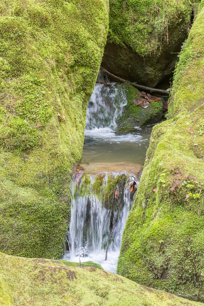
[[[98,80],[106,81],[100,73]],[[87,107],[83,154],[72,177],[68,250],[64,256],[73,262],[91,260],[113,273],[135,196],[131,184],[135,182],[135,188],[139,184],[138,173],[152,130],[149,126],[117,131],[117,117],[126,104],[125,93],[115,83],[95,85]]]

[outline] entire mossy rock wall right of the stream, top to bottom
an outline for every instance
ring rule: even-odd
[[[117,271],[204,298],[204,1],[180,55],[168,120],[156,125]]]

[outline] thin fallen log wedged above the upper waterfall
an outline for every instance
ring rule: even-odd
[[[106,70],[104,67],[101,67],[101,70],[107,75],[109,76],[112,80],[116,81],[116,82],[119,82],[119,83],[125,83],[127,82],[127,80],[124,80],[122,79],[121,77],[119,76],[116,76],[114,75],[113,73],[109,72],[108,70]],[[97,82],[99,84],[103,84],[102,82]],[[106,83],[106,85],[111,85],[110,83]],[[137,83],[133,83],[133,82],[130,82],[130,84],[139,89],[139,90],[146,90],[146,91],[150,91],[150,92],[158,92],[160,95],[169,95],[169,91],[167,90],[164,90],[164,89],[158,89],[158,88],[152,88],[152,87],[148,87],[148,86],[144,86],[144,85],[140,85],[140,84],[137,84]]]

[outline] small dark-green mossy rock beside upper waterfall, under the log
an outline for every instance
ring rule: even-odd
[[[135,94],[140,94],[139,90],[129,83],[120,84],[123,88],[127,104],[123,107],[122,113],[117,118],[118,129],[131,130],[136,126],[144,126],[148,123],[156,123],[163,117],[162,101],[152,101],[147,108],[135,105]]]

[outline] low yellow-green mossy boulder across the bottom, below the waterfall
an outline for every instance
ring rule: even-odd
[[[57,260],[0,253],[0,277],[9,284],[15,306],[202,305],[104,270],[67,266]]]

